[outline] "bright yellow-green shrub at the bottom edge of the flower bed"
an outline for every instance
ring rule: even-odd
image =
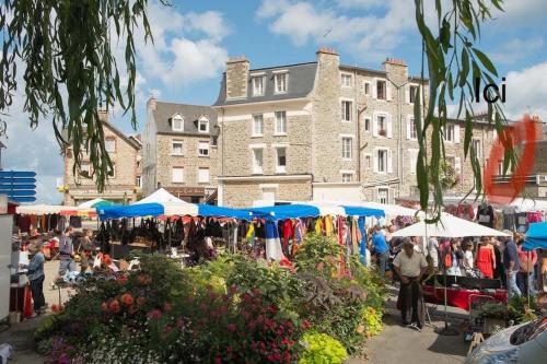
[[[325,333],[304,334],[305,352],[299,364],[340,364],[348,357],[344,345]]]

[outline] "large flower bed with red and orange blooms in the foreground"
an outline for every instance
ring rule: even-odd
[[[139,271],[81,284],[35,339],[51,363],[339,362],[380,332],[384,303],[375,273],[358,257],[340,272],[340,254],[310,236],[294,270],[240,255],[181,269],[143,255]]]

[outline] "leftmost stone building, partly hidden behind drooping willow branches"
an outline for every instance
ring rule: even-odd
[[[141,141],[140,136],[127,136],[108,122],[108,115],[101,113],[105,146],[113,171],[108,177],[105,190],[98,193],[95,181],[85,176],[72,173],[73,153],[68,148],[65,153],[63,192],[65,204],[78,206],[82,202],[103,198],[118,203],[131,203],[137,201],[141,188]],[[92,175],[92,166],[89,155],[84,154],[81,171],[88,176]]]

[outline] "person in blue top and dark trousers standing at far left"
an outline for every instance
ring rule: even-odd
[[[36,317],[47,308],[46,298],[44,297],[44,261],[46,258],[42,253],[42,240],[36,236],[31,238],[27,249],[31,261],[28,265],[20,265],[20,267],[27,269],[26,275],[31,282],[31,293],[34,302],[32,317]]]

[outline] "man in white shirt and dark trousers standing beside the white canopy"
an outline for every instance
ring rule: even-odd
[[[395,257],[393,266],[400,279],[398,300],[403,324],[421,330],[423,300],[420,281],[428,270],[426,257],[414,249],[414,244],[409,238],[405,238],[403,250]]]

